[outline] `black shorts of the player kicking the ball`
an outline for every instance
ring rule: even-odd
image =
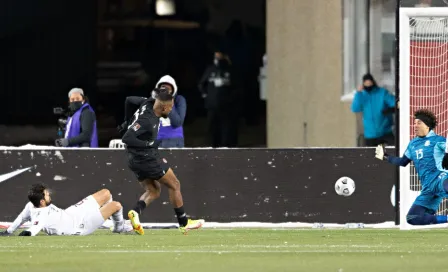
[[[128,154],[128,166],[134,172],[138,181],[145,179],[159,180],[170,168],[165,159],[158,154],[134,155]]]

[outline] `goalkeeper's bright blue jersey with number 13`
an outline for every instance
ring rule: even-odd
[[[422,184],[422,191],[430,189],[437,177],[446,172],[442,169],[445,138],[430,131],[426,137],[416,137],[409,143],[404,155],[414,162]]]

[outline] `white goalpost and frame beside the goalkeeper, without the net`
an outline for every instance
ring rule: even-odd
[[[402,155],[410,141],[410,87],[411,87],[411,26],[409,24],[410,18],[416,17],[446,17],[448,18],[448,7],[438,8],[399,8],[399,101],[400,101],[400,116],[399,116],[399,146],[398,154]],[[444,135],[443,135],[444,136]],[[407,167],[400,167],[399,171],[400,181],[400,229],[409,230],[422,227],[411,226],[406,222],[406,214],[409,211],[412,203],[415,200],[416,194],[410,189],[411,173],[409,165]],[[434,228],[442,225],[427,226]]]

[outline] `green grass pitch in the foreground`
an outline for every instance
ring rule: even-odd
[[[0,237],[0,271],[446,271],[448,231],[202,229]]]

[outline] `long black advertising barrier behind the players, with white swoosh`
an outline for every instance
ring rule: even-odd
[[[394,221],[394,166],[374,149],[161,150],[182,184],[188,214],[211,222],[380,223]],[[0,221],[11,222],[27,202],[27,189],[45,182],[53,202],[66,208],[107,188],[125,210],[142,193],[124,150],[0,150]],[[23,173],[20,173],[20,169]],[[356,182],[349,197],[337,179]],[[142,222],[176,222],[167,190]]]

